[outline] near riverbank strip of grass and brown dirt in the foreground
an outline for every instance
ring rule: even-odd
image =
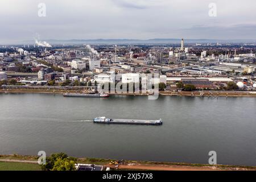
[[[57,154],[58,155],[58,154]],[[0,155],[0,171],[5,169],[13,170],[38,170],[37,164],[39,156],[32,155]],[[70,157],[72,158],[72,157]],[[73,158],[80,164],[102,165],[104,168],[110,167],[115,170],[109,163],[114,159],[96,159],[96,158]],[[24,166],[22,165],[24,164]],[[125,164],[120,165],[119,170],[174,170],[174,171],[256,171],[256,166],[240,165],[210,165],[196,163],[172,163],[172,162],[150,162],[139,160],[125,160]]]

